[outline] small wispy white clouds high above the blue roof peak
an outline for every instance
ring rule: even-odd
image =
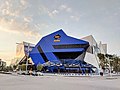
[[[54,18],[55,16],[57,16],[59,13],[68,13],[68,17],[70,17],[70,19],[74,20],[74,21],[79,21],[80,17],[82,16],[79,15],[77,12],[73,11],[71,7],[69,7],[68,5],[62,4],[59,7],[55,8],[54,10],[51,10],[51,8],[45,7],[45,6],[41,6],[39,8],[40,10],[40,14],[41,13],[46,13],[50,18]]]

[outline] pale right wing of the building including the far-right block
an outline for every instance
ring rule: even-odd
[[[94,65],[99,70],[101,70],[102,68],[99,66],[100,60],[97,54],[107,54],[107,44],[102,44],[101,42],[98,44],[92,35],[86,36],[82,38],[82,40],[88,41],[90,44],[90,46],[87,49],[84,61]]]

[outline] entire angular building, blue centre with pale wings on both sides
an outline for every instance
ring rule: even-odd
[[[77,39],[58,30],[43,37],[36,45],[23,42],[16,48],[13,65],[31,61],[32,65],[42,64],[50,72],[72,71],[99,73],[102,70],[98,54],[107,54],[107,44],[98,44],[92,35]],[[31,65],[31,64],[30,64]]]

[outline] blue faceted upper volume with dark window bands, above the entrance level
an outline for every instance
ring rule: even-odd
[[[35,65],[46,62],[61,63],[62,59],[76,59],[82,56],[89,47],[89,43],[66,35],[59,30],[43,37],[30,52]]]

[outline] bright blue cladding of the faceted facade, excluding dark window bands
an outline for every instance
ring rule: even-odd
[[[56,42],[55,36],[59,35],[60,37],[57,39]],[[30,56],[33,60],[33,62],[37,65],[38,63],[45,63],[45,60],[43,60],[43,57],[40,55],[40,52],[38,51],[38,46],[41,47],[42,53],[44,53],[44,56],[51,62],[53,61],[59,61],[59,59],[53,54],[53,52],[85,52],[86,48],[69,48],[69,49],[55,49],[53,45],[63,45],[63,44],[89,44],[86,41],[76,39],[70,36],[67,36],[62,30],[59,30],[57,32],[54,32],[52,34],[49,34],[45,37],[43,37],[35,46],[35,48],[30,52]]]

